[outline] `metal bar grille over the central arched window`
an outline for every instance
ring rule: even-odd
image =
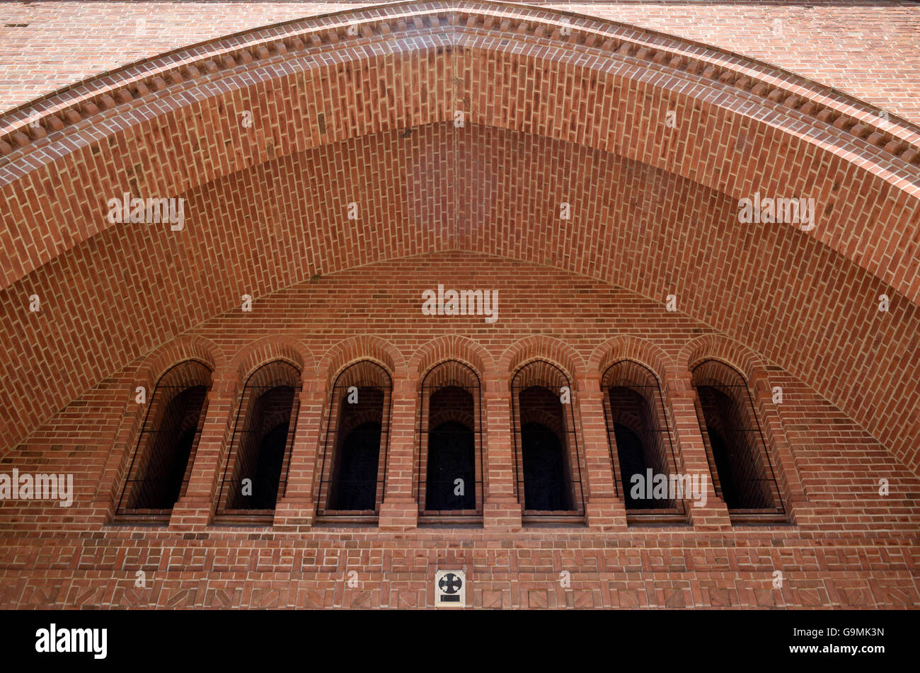
[[[450,368],[456,368],[456,371],[454,371],[452,374],[452,372],[449,371]],[[464,380],[467,381],[466,384],[463,383]],[[431,432],[437,429],[431,427],[431,414],[432,412],[436,411],[431,405],[431,397],[432,395],[437,394],[439,391],[451,388],[455,388],[465,394],[468,394],[473,407],[469,411],[470,416],[472,416],[470,420],[474,426],[473,428],[470,428],[471,434],[473,435],[474,479],[471,481],[471,483],[466,483],[465,480],[465,496],[456,496],[456,498],[459,500],[461,497],[465,497],[466,501],[464,501],[462,504],[473,504],[474,507],[433,509],[428,507],[432,487],[435,489],[443,489],[449,494],[448,500],[450,500],[452,499],[452,496],[454,496],[456,486],[454,478],[451,478],[450,475],[443,479],[431,479],[431,475],[428,473],[428,469],[431,464],[429,460],[431,449]],[[476,371],[474,371],[465,363],[454,359],[445,360],[437,364],[435,367],[432,367],[422,381],[420,388],[420,414],[416,421],[416,437],[419,438],[417,452],[418,464],[416,469],[416,473],[419,475],[419,478],[416,482],[416,498],[417,502],[419,503],[420,523],[470,523],[472,521],[476,521],[477,519],[482,519],[483,501],[485,494],[483,487],[484,472],[482,464],[482,398],[480,392],[480,380]],[[461,410],[455,409],[455,411],[460,412]],[[439,414],[439,416],[450,417],[450,413],[448,411],[446,415]],[[460,413],[457,414],[457,416],[463,416],[463,414]],[[441,427],[440,423],[438,424],[438,427]],[[473,488],[473,494],[471,498],[469,496],[470,487]],[[470,503],[470,500],[472,500],[472,503]]]

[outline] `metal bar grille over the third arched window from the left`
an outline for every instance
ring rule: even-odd
[[[347,411],[349,388],[358,389],[358,408]],[[368,392],[377,391],[383,395],[379,408],[367,408]],[[374,395],[370,395],[374,398]],[[373,522],[380,515],[380,506],[383,503],[384,488],[386,483],[387,456],[389,453],[389,426],[392,411],[393,381],[389,373],[380,365],[371,360],[355,362],[347,369],[341,371],[333,383],[329,396],[328,418],[326,421],[326,437],[323,443],[323,459],[320,465],[319,482],[317,489],[317,519],[334,520],[337,522],[354,521],[356,523]],[[378,403],[374,403],[377,406]],[[345,412],[345,413],[343,413]],[[347,480],[338,478],[336,470],[339,468],[339,454],[343,448],[342,443],[348,437],[341,436],[341,424],[348,420],[350,413],[365,414],[368,418],[379,416],[380,439],[377,453],[377,472],[374,481]],[[357,428],[351,428],[355,430]],[[333,496],[348,500],[367,498],[373,494],[374,508],[366,509],[337,509],[332,506]]]

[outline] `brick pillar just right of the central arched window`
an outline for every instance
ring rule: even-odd
[[[486,498],[483,527],[493,532],[521,530],[523,508],[514,488],[514,442],[512,439],[511,379],[487,371],[484,379],[486,405]]]

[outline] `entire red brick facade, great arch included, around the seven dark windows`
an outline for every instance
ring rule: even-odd
[[[579,8],[913,115],[916,6],[815,4]],[[145,15],[155,39],[115,54],[92,50],[86,25],[108,37],[99,19],[123,29],[138,6],[9,7],[34,7],[45,23],[30,27],[76,63],[29,70],[17,56],[14,97],[230,30],[189,17],[233,9],[242,29],[282,11],[164,3]],[[0,502],[0,605],[421,607],[434,570],[458,566],[478,607],[920,604],[916,127],[701,45],[587,19],[562,40],[551,12],[439,7],[424,21],[379,10],[354,39],[318,19],[283,40],[220,40],[0,120],[0,472],[74,473],[77,489],[71,508]],[[176,13],[188,32],[164,29]],[[815,49],[815,21],[836,51]],[[843,34],[853,26],[891,40],[854,55],[867,39]],[[397,55],[369,56],[372,43]],[[247,130],[244,109],[259,120]],[[187,230],[109,225],[103,206],[124,190],[184,197]],[[737,199],[757,190],[814,196],[821,226],[740,224]],[[498,290],[499,322],[422,315],[439,283]],[[188,485],[168,525],[113,521],[143,421],[134,390],[189,358],[213,386]],[[361,358],[392,379],[383,501],[375,524],[337,527],[316,520],[328,400]],[[482,384],[481,528],[418,526],[418,386],[450,358]],[[742,372],[788,523],[733,523],[710,485],[684,523],[627,527],[600,387],[621,358],[663,382],[683,472],[708,470],[692,367]],[[285,494],[270,526],[215,526],[243,384],[272,359],[303,382]],[[533,359],[574,394],[585,516],[560,528],[522,525],[516,497],[511,385]]]

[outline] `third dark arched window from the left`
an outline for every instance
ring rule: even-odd
[[[319,516],[373,519],[379,514],[392,388],[390,375],[369,360],[342,371],[332,386]]]

